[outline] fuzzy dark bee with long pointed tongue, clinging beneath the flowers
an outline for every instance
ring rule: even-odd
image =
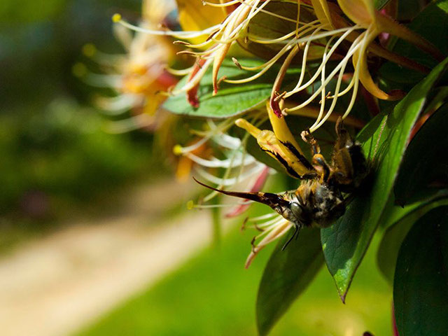
[[[350,193],[360,186],[367,174],[363,149],[345,130],[342,118],[337,120],[335,128],[337,139],[329,164],[311,133],[302,132],[302,139],[311,146],[312,160],[309,162],[301,155],[300,161],[310,173],[300,177],[302,182],[297,190],[279,194],[241,193],[212,188],[196,179],[195,181],[225,195],[266,204],[293,223],[295,231],[283,246],[285,248],[293,237],[297,237],[301,228],[328,228],[341,217],[351,200]],[[297,149],[290,149],[298,153]]]

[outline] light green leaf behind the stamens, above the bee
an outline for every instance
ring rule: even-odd
[[[264,63],[256,59],[240,59],[239,62],[244,66],[258,66]],[[163,107],[172,113],[191,117],[229,118],[239,116],[248,110],[263,106],[263,103],[271,94],[272,83],[274,83],[278,70],[278,66],[272,66],[272,69],[269,69],[260,78],[245,84],[221,83],[218,93],[214,96],[211,69],[209,69],[202,78],[198,90],[199,108],[196,109],[188,104],[184,92],[169,97]],[[297,76],[297,72],[297,69],[292,69],[288,71],[286,77]],[[219,76],[225,76],[228,79],[246,78],[253,76],[253,74],[255,74],[253,71],[238,69],[228,59],[223,62],[219,70]],[[176,85],[176,89],[183,87],[186,80],[187,78],[184,77]]]

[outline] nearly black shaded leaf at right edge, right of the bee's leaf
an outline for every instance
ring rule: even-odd
[[[447,179],[448,104],[426,120],[410,142],[394,187],[397,204],[405,205],[431,182]]]

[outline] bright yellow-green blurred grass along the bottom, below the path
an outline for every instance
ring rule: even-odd
[[[274,246],[244,269],[252,234],[232,230],[220,248],[199,253],[76,335],[257,335],[258,283]],[[269,335],[392,335],[391,288],[374,269],[378,243],[360,266],[346,304],[324,266]]]

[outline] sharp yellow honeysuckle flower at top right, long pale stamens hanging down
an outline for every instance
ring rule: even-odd
[[[323,125],[325,120],[328,119],[328,117],[335,108],[337,98],[346,94],[347,92],[349,92],[349,90],[353,90],[351,101],[349,105],[346,107],[346,112],[344,113],[343,118],[346,118],[346,116],[348,116],[356,99],[356,93],[358,91],[359,81],[363,83],[364,87],[368,92],[370,92],[374,97],[377,97],[379,99],[395,100],[400,99],[402,97],[402,92],[392,92],[386,94],[386,92],[380,90],[379,87],[374,83],[374,80],[370,76],[370,73],[367,69],[367,50],[370,50],[372,53],[375,53],[381,57],[385,57],[395,62],[399,62],[410,68],[418,69],[420,71],[425,70],[423,69],[422,66],[419,66],[419,64],[415,64],[414,62],[409,61],[409,59],[404,59],[403,57],[399,57],[398,55],[393,55],[391,52],[388,52],[384,48],[381,48],[379,45],[374,44],[373,43],[374,38],[376,38],[382,31],[386,31],[389,34],[393,34],[400,38],[404,38],[407,41],[410,41],[415,45],[419,46],[423,50],[430,52],[431,55],[433,55],[434,57],[439,59],[442,58],[440,52],[437,52],[437,50],[433,47],[433,45],[430,45],[430,43],[424,41],[423,38],[416,36],[416,34],[412,33],[412,31],[409,31],[408,29],[405,29],[404,27],[398,25],[398,23],[386,17],[384,14],[381,14],[380,12],[374,10],[373,1],[338,0],[339,7],[342,9],[342,12],[355,23],[355,25],[353,26],[350,26],[339,15],[339,13],[337,12],[337,8],[334,8],[333,4],[327,3],[327,5],[332,6],[332,10],[329,10],[328,6],[323,6],[321,9],[318,10],[316,2],[318,2],[320,5],[325,5],[326,1],[321,0],[311,2],[313,3],[314,9],[316,10],[316,16],[323,24],[321,29],[328,30],[328,27],[335,27],[335,29],[328,31],[329,33],[333,34],[331,38],[329,38],[328,43],[325,46],[325,52],[323,54],[321,66],[319,66],[316,73],[314,73],[314,76],[311,77],[311,80],[309,80],[307,83],[302,84],[303,76],[301,76],[295,88],[293,90],[290,90],[289,92],[285,92],[285,94],[283,94],[283,97],[281,97],[282,99],[286,99],[292,96],[293,94],[296,94],[297,92],[306,89],[306,87],[309,86],[312,82],[314,82],[314,80],[316,80],[318,76],[321,77],[320,78],[321,85],[317,90],[315,90],[314,94],[311,94],[311,97],[302,102],[302,104],[299,104],[293,108],[283,109],[283,111],[281,111],[281,113],[286,114],[290,113],[291,111],[297,111],[298,109],[302,109],[304,106],[307,106],[307,104],[310,104],[313,101],[313,99],[316,99],[316,97],[318,97],[318,94],[320,94],[321,101],[319,102],[319,104],[321,105],[321,113],[319,113],[319,116],[316,119],[314,125],[311,125],[310,127],[311,132],[317,130],[318,127]],[[365,30],[359,33],[358,32],[359,29],[365,29]],[[340,35],[343,31],[344,33]],[[339,35],[340,37],[338,37]],[[337,40],[335,40],[335,38],[337,38]],[[326,75],[325,63],[328,61],[329,57],[335,51],[335,47],[337,47],[337,45],[339,45],[339,43],[341,43],[344,39],[351,42],[351,47],[346,53],[346,56],[339,62],[339,64],[335,67],[335,69],[333,69],[330,74]],[[302,43],[304,43],[304,41]],[[307,43],[309,43],[309,41]],[[297,46],[295,47],[295,49],[291,50],[290,55],[296,52],[297,52]],[[307,62],[305,55],[306,52],[304,52],[304,57],[302,60],[302,74],[304,73],[303,70]],[[350,58],[352,59],[353,68],[355,69],[355,71],[353,73],[353,77],[351,79],[351,82],[349,83],[349,86],[346,87],[346,89],[339,92],[345,67],[347,62],[349,62]],[[288,62],[290,62],[290,59],[287,58],[283,66],[286,65],[287,68]],[[286,71],[286,69],[283,69],[283,71]],[[281,76],[281,73],[279,73],[279,76]],[[325,86],[328,85],[328,83],[330,83],[330,80],[332,80],[332,78],[335,78],[335,76],[337,76],[337,84],[335,87],[335,92],[332,95],[329,95],[330,92],[325,92]],[[275,92],[275,94],[278,93]],[[275,96],[274,94],[272,94],[271,107],[273,109],[277,108],[276,114],[281,118],[278,106],[276,106],[276,102],[273,102],[274,99]],[[324,113],[325,100],[327,99],[332,99],[332,104],[330,106],[330,109],[328,109],[328,111]]]

